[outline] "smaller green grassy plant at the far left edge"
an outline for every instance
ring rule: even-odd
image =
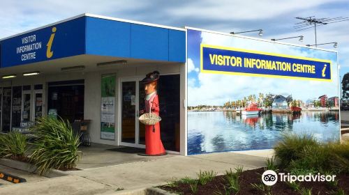
[[[0,157],[22,158],[27,151],[27,136],[19,132],[0,134]]]

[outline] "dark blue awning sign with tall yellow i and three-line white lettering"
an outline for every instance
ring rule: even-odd
[[[84,54],[85,17],[1,41],[1,68]]]

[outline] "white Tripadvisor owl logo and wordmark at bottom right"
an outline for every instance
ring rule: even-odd
[[[275,171],[267,170],[262,174],[262,182],[265,185],[274,185],[279,180],[281,182],[334,182],[335,175],[320,175],[318,174],[306,174],[306,175],[292,175],[290,173],[279,173],[276,174]]]

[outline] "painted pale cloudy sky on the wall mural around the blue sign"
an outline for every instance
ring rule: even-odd
[[[315,49],[303,49],[274,43],[260,42],[246,38],[232,38],[214,33],[202,33],[202,43],[211,45],[223,45],[227,47],[238,47],[253,49],[263,52],[274,52],[295,56],[308,56],[313,58],[328,59],[335,57],[334,53],[319,52]],[[188,51],[190,57],[191,53]],[[192,60],[191,60],[192,61]],[[197,68],[198,64],[193,64]],[[198,74],[198,86],[188,85],[188,105],[199,104],[223,105],[224,102],[240,100],[247,95],[258,95],[258,93],[273,93],[274,95],[292,95],[297,100],[304,102],[309,98],[319,97],[327,94],[338,95],[336,62],[333,64],[332,81],[306,81],[298,79],[279,79],[269,77],[246,77],[239,75],[218,75],[202,73]],[[193,77],[189,77],[191,83]]]

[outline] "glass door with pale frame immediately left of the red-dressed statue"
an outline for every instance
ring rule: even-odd
[[[140,79],[121,80],[121,145],[144,148],[145,128],[139,123],[139,111],[144,104]]]

